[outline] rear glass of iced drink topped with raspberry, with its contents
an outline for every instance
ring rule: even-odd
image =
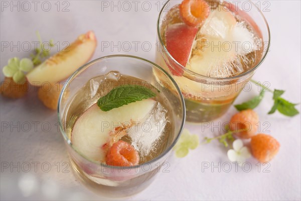
[[[168,1],[157,29],[156,62],[178,83],[189,122],[222,116],[269,48],[266,20],[250,1]]]

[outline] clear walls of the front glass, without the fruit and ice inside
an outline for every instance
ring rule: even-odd
[[[87,82],[96,76],[105,75],[111,71],[118,71],[122,75],[139,78],[145,83],[152,84],[160,90],[162,96],[169,103],[168,111],[173,117],[169,126],[169,138],[164,151],[156,158],[136,166],[110,166],[99,161],[93,161],[80,153],[71,142],[71,132],[76,120],[94,104],[82,102],[77,110],[71,110],[75,96]],[[160,79],[155,76],[160,74]],[[100,86],[99,86],[100,87]],[[81,92],[85,92],[82,91]],[[81,101],[81,100],[80,100]],[[138,112],[138,111],[133,111]],[[181,91],[174,79],[160,66],[146,59],[129,55],[111,55],[95,59],[82,67],[66,81],[59,98],[58,118],[60,130],[64,137],[71,166],[87,187],[102,195],[110,197],[128,196],[144,189],[163,166],[169,165],[166,161],[172,148],[175,146],[185,122],[185,104]]]

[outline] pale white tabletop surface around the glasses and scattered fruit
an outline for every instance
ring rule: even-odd
[[[156,23],[159,15],[158,5],[162,1],[139,1],[133,3],[130,11],[120,12],[117,8],[111,8],[111,1],[107,1],[109,8],[104,8],[101,12],[101,1],[66,1],[59,2],[60,9],[57,11],[57,1],[49,1],[51,10],[49,12],[42,10],[42,3],[37,5],[37,11],[34,10],[34,4],[30,2],[31,10],[27,5],[23,5],[20,11],[18,8],[6,8],[4,2],[1,2],[1,67],[7,64],[9,58],[18,56],[20,58],[29,56],[29,52],[22,51],[22,43],[25,41],[37,41],[35,31],[39,30],[43,40],[54,39],[55,43],[60,44],[60,49],[64,47],[63,42],[72,42],[79,34],[88,30],[93,30],[98,40],[97,50],[93,59],[110,54],[132,54],[154,61],[156,52]],[[114,4],[118,4],[114,1]],[[254,1],[255,3],[258,1]],[[120,2],[122,3],[122,2]],[[119,4],[120,4],[119,3]],[[148,3],[151,8],[148,12],[142,10],[148,9]],[[271,32],[270,52],[259,67],[254,79],[261,82],[268,81],[272,88],[284,89],[286,92],[283,97],[294,103],[300,103],[300,1],[269,1],[269,10],[264,15],[269,23]],[[18,4],[18,1],[14,2]],[[19,3],[20,6],[21,3]],[[68,6],[68,12],[62,12],[63,7]],[[134,5],[137,4],[137,11]],[[261,5],[263,1],[260,2]],[[10,5],[11,6],[11,5]],[[123,9],[128,9],[123,5]],[[44,5],[43,9],[47,9]],[[111,11],[113,9],[113,11]],[[20,41],[21,49],[16,47],[13,50],[5,48],[3,42],[18,44]],[[126,52],[128,47],[103,48],[101,41],[120,44],[129,42],[132,44],[130,51]],[[138,49],[135,49],[135,41],[140,42]],[[145,43],[142,48],[141,44]],[[152,47],[148,50],[147,44]],[[24,47],[27,49],[27,47]],[[33,47],[32,47],[33,49]],[[23,49],[24,50],[24,49]],[[52,53],[55,53],[54,49]],[[1,72],[2,73],[2,72]],[[4,80],[1,74],[1,80]],[[256,87],[250,92],[242,92],[237,98],[236,103],[255,95]],[[234,166],[230,172],[213,171],[208,168],[202,172],[202,162],[209,162],[213,165],[227,162],[226,149],[218,142],[212,142],[208,145],[199,146],[190,154],[178,159],[172,156],[170,158],[170,172],[161,172],[147,189],[139,194],[129,197],[130,200],[183,200],[183,199],[204,199],[204,200],[235,200],[235,199],[296,199],[300,196],[300,115],[294,118],[287,118],[278,113],[267,115],[272,106],[272,95],[266,94],[260,106],[256,109],[262,122],[262,129],[265,128],[264,122],[267,122],[271,135],[273,135],[281,144],[278,155],[271,161],[268,170],[263,172],[261,166],[260,172],[255,165],[254,159],[248,161],[252,164],[250,172],[244,172],[241,168],[235,172]],[[103,199],[101,195],[96,195],[79,184],[70,167],[64,172],[66,167],[63,162],[68,162],[63,138],[57,131],[57,114],[47,110],[38,100],[36,93],[31,93],[25,98],[11,100],[1,96],[1,122],[29,122],[31,130],[25,127],[18,131],[16,128],[4,128],[1,131],[1,199]],[[297,106],[300,110],[300,106]],[[229,121],[229,118],[235,113],[234,107],[221,119],[214,122]],[[40,122],[35,131],[34,123]],[[51,129],[48,132],[49,122]],[[20,128],[20,127],[19,127]],[[199,134],[200,139],[205,136],[212,137],[218,133],[217,128],[211,131],[211,128],[202,131],[201,126],[186,125],[192,133]],[[12,131],[11,131],[12,129]],[[261,130],[262,130],[261,129]],[[12,164],[11,164],[12,162]],[[6,164],[20,166],[23,169],[4,168]],[[26,162],[31,164],[31,170],[26,173]],[[38,164],[35,172],[34,162]],[[45,172],[41,164],[49,162],[51,170]],[[203,163],[204,164],[204,163]],[[58,170],[58,166],[60,169]],[[247,168],[247,167],[246,167]],[[44,169],[48,169],[47,164]],[[24,197],[18,186],[24,176],[36,178],[38,186],[36,190]],[[30,188],[31,184],[26,186]]]

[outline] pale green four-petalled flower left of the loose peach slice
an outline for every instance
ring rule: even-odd
[[[34,63],[29,58],[20,59],[17,57],[9,59],[8,65],[2,71],[6,77],[12,77],[16,83],[26,81],[24,72],[29,72],[34,67]]]

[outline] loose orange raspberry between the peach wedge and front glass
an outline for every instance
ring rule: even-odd
[[[62,88],[60,83],[44,84],[38,90],[38,97],[47,108],[56,110]]]

